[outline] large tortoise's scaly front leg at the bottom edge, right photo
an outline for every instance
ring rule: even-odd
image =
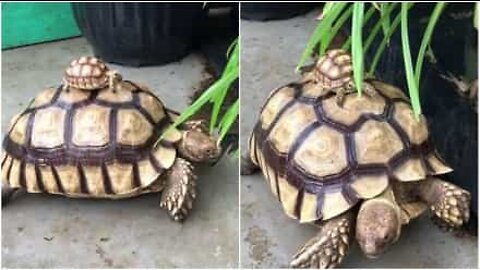
[[[290,263],[295,268],[333,268],[342,261],[353,239],[353,210],[321,224],[320,232],[310,239]]]

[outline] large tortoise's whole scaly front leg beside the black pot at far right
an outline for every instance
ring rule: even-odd
[[[470,218],[470,193],[438,178],[422,181],[419,196],[435,216],[451,228],[458,228]]]

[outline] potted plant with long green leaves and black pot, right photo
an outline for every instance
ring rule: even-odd
[[[408,90],[415,115],[428,119],[437,150],[454,169],[449,180],[472,193],[475,214],[476,14],[475,3],[327,3],[297,67],[329,46],[342,47],[352,53],[356,85],[366,73]]]

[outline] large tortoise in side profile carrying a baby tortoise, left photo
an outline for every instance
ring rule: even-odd
[[[19,190],[108,199],[161,191],[160,206],[182,221],[195,199],[192,162],[220,153],[204,123],[170,129],[158,142],[177,114],[94,57],[72,61],[63,81],[12,119],[2,205]]]

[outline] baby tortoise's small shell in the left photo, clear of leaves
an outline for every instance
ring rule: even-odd
[[[108,67],[99,59],[83,56],[73,60],[65,70],[64,81],[70,87],[93,90],[108,84]]]

